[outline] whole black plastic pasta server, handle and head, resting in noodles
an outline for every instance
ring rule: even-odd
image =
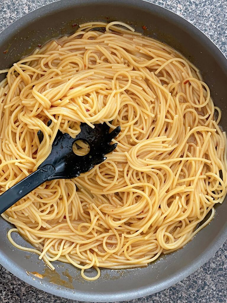
[[[106,154],[117,147],[117,143],[112,145],[110,143],[119,134],[120,126],[110,133],[106,123],[94,124],[94,128],[81,123],[80,127],[81,132],[76,138],[57,132],[50,155],[38,169],[0,195],[0,214],[45,181],[72,179],[91,170],[106,159]],[[38,132],[38,135],[41,141],[43,135],[41,132]],[[73,144],[77,140],[89,144],[90,151],[87,155],[79,156],[74,153]]]

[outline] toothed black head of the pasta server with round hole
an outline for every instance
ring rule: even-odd
[[[72,138],[69,134],[58,131],[54,139],[50,155],[38,167],[51,164],[55,168],[54,175],[48,178],[53,179],[72,179],[81,173],[90,171],[94,165],[106,160],[105,155],[117,147],[117,143],[110,145],[120,132],[120,126],[109,133],[110,127],[106,124],[94,124],[91,128],[86,123],[81,123],[81,132]],[[83,140],[90,146],[87,155],[78,156],[73,152],[73,144],[77,140]]]

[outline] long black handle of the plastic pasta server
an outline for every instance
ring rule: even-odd
[[[0,214],[15,204],[18,200],[28,195],[39,185],[48,180],[55,173],[53,165],[47,164],[39,168],[31,175],[21,180],[0,196]]]

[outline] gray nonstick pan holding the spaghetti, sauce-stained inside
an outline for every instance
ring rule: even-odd
[[[17,20],[0,34],[0,68],[10,67],[39,43],[74,31],[85,21],[128,21],[137,31],[157,38],[181,52],[201,71],[215,105],[222,109],[221,125],[227,129],[227,60],[195,26],[160,6],[142,0],[62,0],[39,8]],[[4,54],[4,51],[8,52]],[[226,200],[226,199],[225,199]],[[88,282],[69,264],[54,262],[51,273],[37,255],[14,248],[6,232],[12,226],[0,217],[0,263],[25,282],[54,295],[80,301],[130,300],[161,291],[182,280],[205,263],[227,238],[227,203],[217,205],[215,218],[184,248],[161,257],[146,268],[101,270],[101,278]],[[18,234],[20,245],[31,247]],[[26,272],[44,274],[39,279]],[[88,273],[89,274],[89,273]],[[94,273],[91,270],[91,275]],[[69,277],[69,278],[68,278]]]

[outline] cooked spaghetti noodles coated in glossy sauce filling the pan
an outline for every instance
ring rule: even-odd
[[[121,127],[102,164],[45,182],[3,214],[16,227],[9,241],[52,269],[68,262],[95,280],[100,267],[146,266],[185,245],[224,200],[226,135],[208,86],[179,53],[129,25],[82,24],[15,63],[0,87],[2,192],[37,169],[58,129],[75,137],[80,122]],[[35,248],[16,244],[14,231]]]

